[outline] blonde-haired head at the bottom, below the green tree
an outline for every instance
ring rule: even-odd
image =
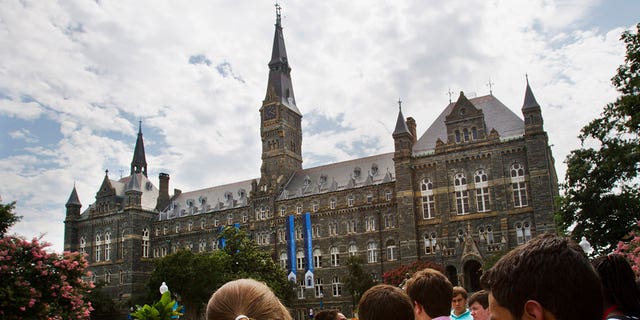
[[[291,320],[291,315],[266,284],[253,279],[227,282],[207,304],[207,320]],[[245,319],[246,319],[245,318]]]

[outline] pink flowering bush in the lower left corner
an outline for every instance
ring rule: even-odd
[[[48,253],[48,246],[37,238],[0,239],[0,319],[89,318],[87,261],[80,253]]]

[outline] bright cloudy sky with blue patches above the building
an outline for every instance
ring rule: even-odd
[[[633,0],[280,5],[303,167],[393,151],[398,99],[419,136],[448,92],[491,89],[522,117],[528,75],[560,182],[640,22]],[[62,251],[74,185],[85,210],[105,170],[129,175],[139,121],[156,186],[160,172],[183,191],[259,177],[274,23],[266,0],[0,0],[0,196],[22,216],[9,231]]]

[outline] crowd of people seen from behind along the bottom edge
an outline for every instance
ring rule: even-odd
[[[440,271],[417,271],[402,288],[380,284],[358,303],[361,320],[640,320],[640,292],[626,259],[590,262],[571,239],[543,234],[503,256],[481,277],[485,290],[454,287]],[[207,305],[207,320],[289,320],[291,315],[262,282],[231,281]],[[346,320],[322,310],[315,320]]]

